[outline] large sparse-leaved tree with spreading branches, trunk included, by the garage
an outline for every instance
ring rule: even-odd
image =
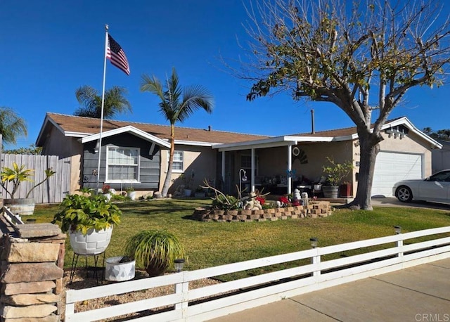
[[[372,210],[387,117],[411,87],[444,84],[450,29],[442,7],[432,0],[262,0],[247,10],[251,60],[240,74],[253,83],[247,99],[289,91],[295,100],[342,109],[361,149],[352,205]]]

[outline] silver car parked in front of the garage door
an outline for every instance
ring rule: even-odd
[[[426,179],[399,181],[394,184],[392,194],[402,202],[424,200],[450,203],[450,169]]]

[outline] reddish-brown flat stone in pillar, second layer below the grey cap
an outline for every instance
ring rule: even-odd
[[[54,263],[9,264],[2,283],[52,281],[63,278],[64,271]]]

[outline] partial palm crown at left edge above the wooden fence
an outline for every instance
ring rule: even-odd
[[[0,107],[0,134],[5,143],[15,144],[18,136],[27,136],[27,124],[12,108]]]

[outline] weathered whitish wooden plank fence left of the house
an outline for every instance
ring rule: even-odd
[[[49,180],[42,183],[34,189],[30,194],[30,198],[34,198],[36,203],[53,203],[61,202],[66,194],[70,191],[70,157],[60,159],[56,155],[15,155],[1,154],[1,169],[4,167],[13,167],[13,162],[19,167],[25,165],[26,169],[34,169],[32,181],[23,181],[20,183],[19,191],[15,194],[15,198],[25,198],[28,191],[32,187],[45,179],[44,171],[53,169],[56,174]],[[8,191],[12,191],[12,183],[6,186]],[[4,188],[0,187],[0,198],[11,198]]]

